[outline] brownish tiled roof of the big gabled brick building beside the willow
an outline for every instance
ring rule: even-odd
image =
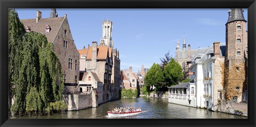
[[[39,19],[37,23],[36,19],[23,19],[20,21],[23,23],[25,27],[28,26],[31,29],[31,31],[41,32],[46,36],[47,41],[53,42],[64,19],[65,17],[42,18]],[[51,30],[49,33],[45,31],[47,25],[49,27],[51,26]]]

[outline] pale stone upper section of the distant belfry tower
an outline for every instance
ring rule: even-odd
[[[102,22],[101,42],[105,43],[105,45],[110,48],[114,47],[114,43],[113,43],[113,39],[112,39],[112,28],[113,28],[113,22],[111,22],[111,21],[103,21]]]

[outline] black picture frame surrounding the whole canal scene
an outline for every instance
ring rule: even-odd
[[[1,126],[255,126],[255,0],[0,0]],[[247,8],[249,99],[247,119],[8,119],[8,8]]]

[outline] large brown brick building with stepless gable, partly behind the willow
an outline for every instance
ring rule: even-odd
[[[20,20],[26,32],[36,31],[46,36],[47,41],[53,43],[53,51],[57,54],[63,71],[65,92],[78,92],[79,56],[67,14],[58,17],[56,9],[51,9],[49,18],[42,18],[42,12],[36,11],[35,19]]]

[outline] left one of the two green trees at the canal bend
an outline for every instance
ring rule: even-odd
[[[163,71],[159,64],[154,63],[145,75],[145,84],[147,86],[148,92],[150,91],[150,86],[155,86],[155,91],[159,90],[159,88],[163,86],[163,81]]]

